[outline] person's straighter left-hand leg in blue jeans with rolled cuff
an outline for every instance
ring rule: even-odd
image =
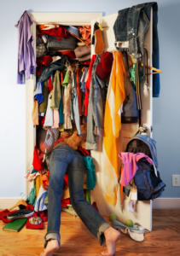
[[[55,244],[55,240],[58,241],[60,246],[61,198],[69,158],[68,148],[61,146],[55,148],[49,159],[48,229],[44,247],[47,246],[47,241],[51,241],[48,243],[47,249],[49,249],[50,244]]]

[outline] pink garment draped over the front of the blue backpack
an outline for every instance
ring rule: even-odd
[[[120,177],[120,184],[122,186],[126,186],[129,182],[131,182],[131,179],[135,176],[136,171],[138,170],[138,167],[136,165],[138,160],[145,158],[152,166],[154,165],[153,160],[151,160],[148,157],[148,155],[142,153],[133,154],[130,152],[122,152],[119,153],[119,158],[124,163],[123,171]]]

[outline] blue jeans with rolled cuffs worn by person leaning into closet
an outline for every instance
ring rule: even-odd
[[[68,145],[55,148],[49,159],[48,190],[48,229],[44,247],[49,239],[60,242],[61,198],[63,195],[64,176],[67,171],[69,191],[73,209],[90,232],[97,237],[100,245],[105,242],[104,231],[110,225],[99,212],[84,199],[84,160],[78,152]]]

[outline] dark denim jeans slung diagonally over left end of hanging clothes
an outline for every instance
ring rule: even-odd
[[[60,60],[50,63],[48,66],[45,66],[41,72],[41,75],[37,78],[38,82],[44,82],[45,80],[49,79],[49,76],[51,76],[53,71],[57,69],[61,70],[64,67],[65,61],[67,61],[67,56],[61,55]]]

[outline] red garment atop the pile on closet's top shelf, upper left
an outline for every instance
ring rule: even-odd
[[[67,31],[66,28],[60,26],[60,27],[56,27],[56,28],[51,28],[48,30],[41,30],[38,33],[38,38],[42,37],[44,34],[46,35],[51,35],[51,36],[55,36],[55,38],[59,38],[59,41],[61,41],[61,38],[70,38],[71,34]]]

